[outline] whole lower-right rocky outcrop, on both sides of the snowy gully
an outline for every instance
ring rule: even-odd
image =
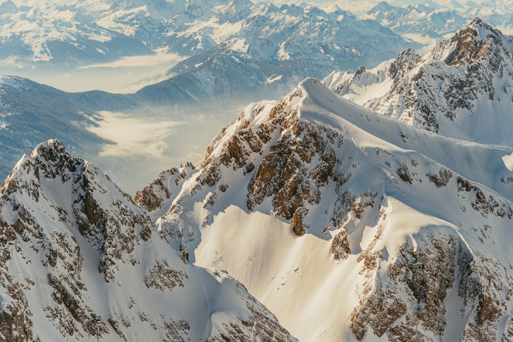
[[[351,329],[357,339],[371,329],[390,341],[439,341],[451,329],[446,321],[446,298],[451,292],[464,300],[462,316],[470,315],[462,339],[492,341],[501,336],[497,329],[506,304],[489,295],[510,286],[504,270],[486,259],[476,260],[457,236],[428,235],[414,244],[415,249],[412,242],[402,245],[386,277],[378,277],[354,309]],[[380,259],[377,264],[384,265]],[[366,272],[376,276],[379,268],[366,268]],[[483,273],[494,280],[483,284],[478,280]]]

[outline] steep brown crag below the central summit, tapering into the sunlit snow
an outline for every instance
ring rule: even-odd
[[[249,182],[247,206],[252,210],[271,197],[275,213],[292,219],[292,230],[303,235],[309,228],[303,222],[305,205],[319,204],[321,189],[333,178],[337,157],[330,145],[340,139],[335,131],[302,122],[291,133],[264,155]]]

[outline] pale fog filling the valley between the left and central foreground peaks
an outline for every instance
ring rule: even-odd
[[[128,113],[100,112],[90,131],[110,140],[100,154],[84,156],[130,195],[160,172],[198,163],[219,131],[237,119],[242,107],[145,108]]]

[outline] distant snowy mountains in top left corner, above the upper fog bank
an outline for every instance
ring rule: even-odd
[[[0,5],[0,58],[4,63],[85,64],[151,54],[143,42],[97,25],[68,6]]]

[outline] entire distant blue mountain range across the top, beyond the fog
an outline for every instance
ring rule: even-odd
[[[165,104],[284,94],[306,76],[375,66],[383,57],[421,46],[337,7],[249,0],[1,6],[0,59],[10,72],[35,68],[65,74],[156,52],[190,57],[162,75],[148,75],[165,83],[143,93]]]

